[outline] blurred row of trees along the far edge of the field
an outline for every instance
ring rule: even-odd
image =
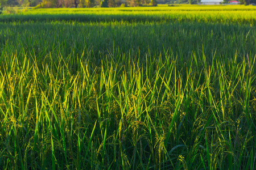
[[[36,8],[51,7],[126,7],[157,6],[158,4],[197,4],[201,0],[0,0],[0,7],[27,6]],[[239,0],[241,4],[256,4],[256,0]],[[229,0],[224,0],[228,3]],[[1,10],[1,9],[0,9]]]

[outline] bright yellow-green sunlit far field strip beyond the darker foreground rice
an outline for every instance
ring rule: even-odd
[[[256,6],[159,6],[125,8],[41,8],[1,15],[0,22],[203,22],[255,25]]]

